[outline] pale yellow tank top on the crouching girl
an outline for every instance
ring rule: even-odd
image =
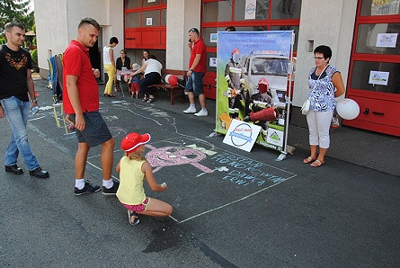
[[[146,160],[131,160],[129,156],[120,159],[120,187],[117,197],[121,203],[138,205],[145,201],[146,194],[143,188],[143,174],[141,168]]]

